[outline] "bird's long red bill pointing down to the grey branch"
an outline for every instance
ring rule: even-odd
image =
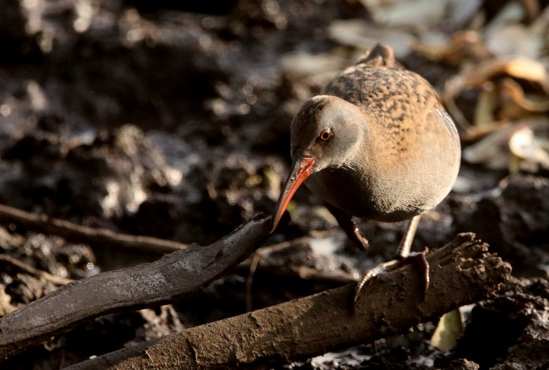
[[[297,188],[305,181],[311,173],[313,173],[314,158],[301,158],[296,157],[292,163],[292,169],[288,180],[284,185],[282,193],[277,202],[277,206],[274,208],[274,214],[272,215],[272,228],[270,232],[273,232],[277,228],[277,225],[284,213],[286,207],[290,203],[290,200],[294,196]]]

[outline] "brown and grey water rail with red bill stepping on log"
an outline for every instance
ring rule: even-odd
[[[378,43],[301,106],[290,125],[292,165],[272,216],[272,230],[305,183],[360,249],[369,242],[353,218],[408,221],[393,260],[366,271],[360,291],[375,275],[409,258],[421,214],[452,190],[460,167],[460,138],[433,86],[395,60]]]

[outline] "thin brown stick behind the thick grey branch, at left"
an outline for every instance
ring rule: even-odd
[[[86,243],[102,247],[122,247],[141,249],[157,254],[167,254],[187,248],[186,244],[153,238],[151,236],[136,236],[117,234],[112,230],[87,227],[60,219],[51,219],[45,214],[34,214],[17,208],[0,204],[0,221],[15,223],[27,229],[53,234],[73,243]]]

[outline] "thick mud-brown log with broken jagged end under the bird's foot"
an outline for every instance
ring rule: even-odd
[[[80,362],[70,369],[235,369],[268,367],[406,332],[506,282],[511,266],[474,234],[428,254],[431,284],[423,296],[414,264],[379,275],[362,289],[351,313],[354,284]]]

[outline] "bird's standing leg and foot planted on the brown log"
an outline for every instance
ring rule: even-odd
[[[414,240],[414,235],[416,234],[417,225],[419,224],[419,219],[421,219],[421,214],[418,214],[417,216],[412,217],[412,219],[410,219],[410,221],[408,222],[406,233],[404,234],[404,237],[400,242],[399,249],[397,251],[397,256],[394,260],[390,260],[382,264],[379,264],[373,269],[366,271],[366,273],[364,273],[364,275],[362,276],[362,279],[360,279],[360,282],[358,282],[355,288],[355,295],[353,297],[353,307],[356,304],[358,297],[360,296],[360,291],[362,290],[362,287],[364,286],[364,284],[366,284],[366,282],[369,282],[375,275],[379,275],[380,273],[385,273],[387,271],[392,271],[394,269],[397,269],[398,267],[401,267],[402,264],[404,264],[404,262],[406,262],[406,260],[410,258],[417,260],[421,266],[421,269],[423,270],[423,282],[425,284],[423,296],[425,297],[425,293],[427,293],[427,289],[429,288],[429,264],[425,259],[424,252],[410,253],[410,249],[412,247],[412,240]]]

